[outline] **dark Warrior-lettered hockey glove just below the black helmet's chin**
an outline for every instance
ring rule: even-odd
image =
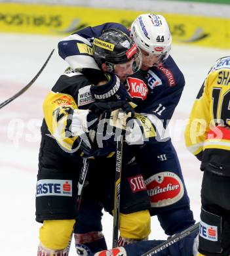
[[[132,101],[132,97],[127,92],[125,85],[120,82],[115,74],[105,74],[107,83],[104,85],[91,85],[90,91],[96,101]]]

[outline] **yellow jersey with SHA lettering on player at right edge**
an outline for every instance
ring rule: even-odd
[[[185,144],[197,156],[208,148],[230,150],[230,56],[210,69],[185,128]]]

